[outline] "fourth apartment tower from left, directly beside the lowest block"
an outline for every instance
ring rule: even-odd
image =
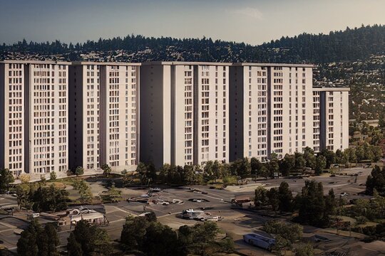
[[[230,71],[230,161],[301,152],[312,142],[312,65],[235,63]]]

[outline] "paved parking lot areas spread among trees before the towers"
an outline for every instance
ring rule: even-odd
[[[105,204],[106,218],[109,225],[104,227],[111,237],[111,240],[120,238],[120,232],[125,217],[128,215],[139,215],[144,212],[153,211],[157,215],[160,223],[169,225],[171,228],[178,229],[181,225],[195,225],[199,223],[197,220],[187,220],[181,218],[180,213],[185,209],[202,209],[206,213],[213,216],[220,215],[223,220],[218,221],[219,225],[225,233],[232,235],[235,240],[237,250],[245,253],[245,255],[269,255],[265,250],[258,249],[245,244],[242,240],[242,235],[252,233],[254,230],[262,227],[262,225],[271,218],[249,212],[247,210],[239,210],[231,208],[231,200],[236,196],[254,197],[254,191],[257,186],[263,186],[267,189],[279,186],[282,181],[289,183],[290,189],[295,193],[300,193],[305,181],[314,179],[322,181],[324,185],[324,193],[328,193],[329,189],[333,188],[334,193],[338,196],[341,193],[347,193],[345,198],[361,198],[358,193],[364,191],[367,176],[371,169],[354,168],[341,169],[335,171],[335,175],[324,174],[322,176],[312,176],[305,178],[277,178],[261,181],[250,181],[248,184],[240,186],[227,186],[225,189],[210,189],[208,186],[185,186],[180,188],[164,187],[160,192],[155,192],[148,198],[148,188],[118,188],[122,192],[125,199],[128,198],[148,198],[150,202],[158,202],[156,204],[140,203],[135,201],[120,201],[118,203]],[[94,196],[105,190],[100,182],[90,183],[91,191]],[[67,187],[70,194],[76,196],[71,186]],[[162,203],[162,202],[175,203]],[[182,203],[183,201],[183,203]],[[16,198],[9,195],[0,196],[0,206],[16,204]],[[25,217],[22,217],[25,218]],[[16,249],[16,242],[19,235],[14,233],[14,230],[25,228],[27,222],[21,218],[9,218],[9,215],[0,215],[0,240],[4,241],[4,246]],[[284,217],[282,217],[284,218]],[[71,230],[69,227],[63,228],[58,235],[61,241],[61,246],[66,245]],[[305,234],[312,235],[314,233],[325,233],[324,230],[314,230],[314,228],[305,228]],[[354,240],[354,239],[353,239]],[[349,240],[351,241],[351,240]],[[334,235],[334,243],[336,245],[345,244],[346,238]],[[351,241],[353,242],[353,241]],[[368,247],[369,245],[365,245]],[[327,248],[325,248],[327,249]]]

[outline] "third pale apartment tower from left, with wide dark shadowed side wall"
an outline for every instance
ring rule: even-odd
[[[229,161],[230,63],[141,66],[140,161],[205,165]]]

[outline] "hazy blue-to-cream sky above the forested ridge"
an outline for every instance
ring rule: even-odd
[[[385,0],[0,0],[0,42],[128,34],[246,42],[385,24]]]

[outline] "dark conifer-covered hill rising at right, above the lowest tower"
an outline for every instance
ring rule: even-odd
[[[385,51],[385,26],[361,26],[328,35],[302,33],[292,38],[282,37],[265,43],[259,50],[271,50],[270,59],[276,62],[330,63],[364,60]]]

